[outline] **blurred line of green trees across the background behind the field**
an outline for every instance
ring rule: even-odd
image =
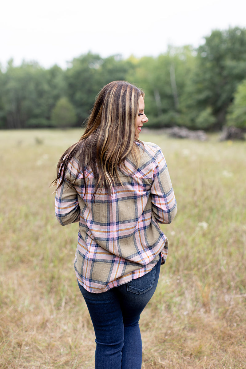
[[[0,128],[81,126],[112,80],[145,91],[149,127],[246,128],[246,29],[215,30],[197,49],[169,46],[156,58],[89,52],[66,70],[10,60],[0,69]]]

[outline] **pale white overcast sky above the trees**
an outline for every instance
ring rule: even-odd
[[[0,63],[50,68],[88,51],[157,56],[167,45],[197,47],[212,30],[246,27],[246,0],[5,0]]]

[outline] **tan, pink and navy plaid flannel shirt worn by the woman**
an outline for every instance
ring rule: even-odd
[[[75,254],[78,282],[89,292],[100,293],[149,272],[168,253],[168,240],[158,223],[171,223],[176,199],[161,149],[136,143],[141,161],[135,169],[131,155],[119,170],[112,196],[104,190],[92,200],[95,180],[76,158],[67,167],[65,181],[56,190],[55,212],[61,225],[79,221]],[[59,181],[58,181],[59,184]]]

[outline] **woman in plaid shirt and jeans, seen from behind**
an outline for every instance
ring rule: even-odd
[[[138,140],[144,93],[125,81],[98,94],[54,183],[61,225],[79,221],[75,273],[96,335],[96,369],[140,369],[139,317],[155,292],[168,241],[158,223],[177,206],[161,149]]]

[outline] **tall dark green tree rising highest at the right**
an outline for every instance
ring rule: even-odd
[[[213,31],[197,50],[194,73],[183,100],[186,125],[197,127],[198,115],[212,109],[210,128],[220,129],[238,83],[246,77],[246,30]],[[209,127],[207,127],[209,128]]]

